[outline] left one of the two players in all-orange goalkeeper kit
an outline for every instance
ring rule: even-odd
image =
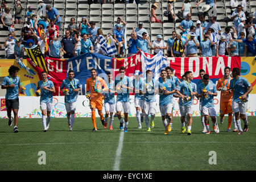
[[[92,123],[93,130],[97,131],[96,127],[96,109],[98,110],[98,115],[100,115],[102,125],[105,124],[105,119],[102,113],[102,92],[108,90],[108,85],[106,82],[97,76],[97,70],[95,68],[90,70],[91,77],[86,80],[86,95],[90,94],[90,109],[92,110]]]

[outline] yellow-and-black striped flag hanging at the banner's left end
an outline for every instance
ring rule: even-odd
[[[41,69],[45,70],[48,73],[47,63],[44,59],[44,55],[41,52],[38,45],[33,48],[25,48],[28,57],[35,63],[36,66],[40,67]]]

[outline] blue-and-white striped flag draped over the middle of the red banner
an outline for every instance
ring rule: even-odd
[[[166,57],[163,57],[163,52],[159,51],[153,57],[147,57],[144,52],[141,52],[141,62],[142,62],[142,73],[143,77],[146,77],[146,71],[150,69],[153,73],[153,78],[158,80],[160,77],[160,72],[162,69],[170,66]]]

